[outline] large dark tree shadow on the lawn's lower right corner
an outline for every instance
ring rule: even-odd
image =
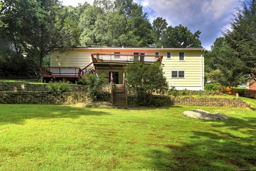
[[[149,151],[153,169],[256,169],[256,118],[230,118],[211,126],[209,132],[193,132],[186,143]]]

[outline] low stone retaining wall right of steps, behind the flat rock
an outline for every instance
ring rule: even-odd
[[[249,104],[241,99],[236,98],[209,98],[209,97],[174,97],[169,96],[156,96],[162,104],[172,104],[172,105],[198,105],[204,107],[250,107]],[[135,97],[129,96],[129,104],[134,104]]]

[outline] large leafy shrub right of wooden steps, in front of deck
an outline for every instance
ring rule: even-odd
[[[168,90],[163,64],[155,62],[151,65],[143,65],[134,62],[125,67],[125,72],[127,72],[128,87],[135,93],[137,104],[158,106],[159,101],[153,100],[153,93],[164,94]]]

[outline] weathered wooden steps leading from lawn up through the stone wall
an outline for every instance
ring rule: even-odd
[[[116,108],[127,108],[127,94],[124,84],[113,85],[113,106]]]

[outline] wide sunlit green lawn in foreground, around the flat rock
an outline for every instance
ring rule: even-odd
[[[189,109],[227,121],[182,116]],[[256,111],[0,105],[0,170],[256,169]]]

